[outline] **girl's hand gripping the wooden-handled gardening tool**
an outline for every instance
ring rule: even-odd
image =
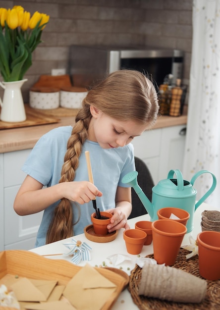
[[[63,182],[59,185],[62,197],[77,202],[80,205],[88,203],[90,200],[94,200],[96,197],[101,197],[103,195],[94,184],[88,181]]]

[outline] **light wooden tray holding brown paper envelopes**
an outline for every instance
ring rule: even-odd
[[[66,285],[81,268],[83,267],[63,259],[43,258],[28,251],[8,250],[0,252],[0,279],[6,274],[12,274],[31,279],[58,280],[58,284]],[[102,308],[102,310],[109,310],[123,290],[126,281],[122,276],[106,268],[94,268],[116,284],[116,290]],[[5,307],[4,309],[8,308]]]

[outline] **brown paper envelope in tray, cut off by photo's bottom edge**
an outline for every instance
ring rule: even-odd
[[[73,306],[63,302],[63,301],[55,301],[50,303],[41,303],[41,304],[27,304],[25,309],[28,310],[76,310]]]

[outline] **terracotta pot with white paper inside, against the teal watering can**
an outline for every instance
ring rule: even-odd
[[[189,212],[187,212],[186,210],[176,208],[176,207],[165,207],[157,211],[159,219],[171,219],[169,218],[171,213],[179,218],[179,219],[172,218],[172,220],[182,223],[183,225],[186,226],[187,221],[190,216]]]

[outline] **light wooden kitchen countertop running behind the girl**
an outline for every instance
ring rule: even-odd
[[[31,127],[21,127],[0,130],[0,153],[13,152],[19,150],[32,149],[41,136],[53,128],[59,126],[74,125],[75,117],[59,117],[60,121],[55,124],[38,125]],[[187,108],[183,115],[179,117],[159,116],[157,123],[153,127],[163,128],[187,123]]]

